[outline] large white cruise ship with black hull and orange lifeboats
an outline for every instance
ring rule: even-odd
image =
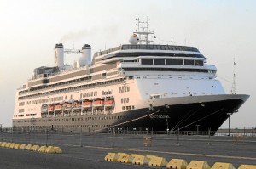
[[[138,20],[130,44],[96,52],[92,59],[88,44],[81,50],[56,44],[55,65],[36,68],[17,89],[13,127],[217,131],[249,96],[225,93],[216,66],[197,48],[154,44],[148,25]],[[68,66],[64,53],[81,57]]]

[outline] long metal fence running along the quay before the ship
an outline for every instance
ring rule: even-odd
[[[215,133],[212,136],[212,133]],[[133,147],[140,143],[144,144],[145,139],[147,143],[150,142],[150,146],[157,143],[160,144],[161,140],[170,139],[173,142],[179,142],[181,140],[190,139],[193,136],[200,136],[200,139],[205,139],[210,142],[212,138],[218,137],[218,139],[230,140],[230,143],[246,143],[247,140],[253,140],[256,144],[256,129],[249,128],[245,129],[234,129],[228,133],[226,130],[220,130],[218,132],[212,131],[135,131],[135,130],[109,130],[108,133],[100,132],[63,132],[61,130],[24,130],[14,128],[2,128],[0,131],[0,142],[13,142],[13,143],[24,143],[24,144],[69,144],[76,146],[83,145],[111,145],[119,146],[122,144],[131,144]],[[230,136],[230,137],[223,137]],[[190,138],[189,138],[190,137]],[[195,137],[194,137],[195,138]],[[193,138],[193,139],[194,139]],[[125,139],[122,142],[122,139]],[[195,138],[195,139],[198,139]],[[128,141],[127,141],[128,140]],[[141,140],[138,142],[138,140]],[[148,142],[149,141],[149,142]],[[141,146],[141,145],[140,145]]]

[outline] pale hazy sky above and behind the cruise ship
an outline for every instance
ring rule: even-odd
[[[0,0],[0,124],[12,126],[15,90],[34,68],[54,65],[56,43],[90,44],[93,54],[128,43],[135,19],[148,16],[155,43],[198,48],[217,66],[226,93],[236,59],[236,93],[250,98],[230,117],[230,127],[256,127],[255,7],[253,0]],[[70,65],[77,58],[65,56]]]

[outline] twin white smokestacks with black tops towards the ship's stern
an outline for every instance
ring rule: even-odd
[[[84,65],[90,64],[91,58],[91,48],[90,45],[85,44],[82,47],[82,56],[79,58],[77,62],[77,67],[83,67]],[[55,44],[55,66],[59,68],[64,67],[64,46],[62,43]]]

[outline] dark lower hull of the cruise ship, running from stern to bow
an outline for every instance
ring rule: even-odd
[[[13,122],[14,127],[18,128],[51,128],[66,132],[107,132],[117,129],[143,131],[177,131],[177,129],[208,131],[211,129],[214,133],[247,98],[247,95],[236,95],[236,97],[230,95],[229,99],[212,101],[212,96],[191,97],[184,101],[185,104],[162,104],[111,115],[51,117]],[[206,102],[198,101],[203,99]],[[194,103],[188,103],[191,100]]]

